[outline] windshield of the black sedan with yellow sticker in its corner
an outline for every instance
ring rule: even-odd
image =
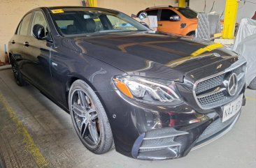
[[[123,31],[148,31],[136,20],[115,10],[57,9],[51,10],[55,26],[63,36],[94,35]]]

